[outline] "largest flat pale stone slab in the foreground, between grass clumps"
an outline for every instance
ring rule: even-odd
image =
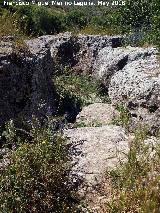
[[[118,166],[125,159],[124,153],[128,152],[129,137],[122,127],[68,129],[64,136],[71,143],[72,176],[78,175],[88,185],[97,184],[105,171]]]

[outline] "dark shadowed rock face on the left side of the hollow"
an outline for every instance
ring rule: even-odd
[[[0,125],[11,118],[54,113],[50,49],[29,41],[28,53],[16,55],[11,43],[0,43]]]

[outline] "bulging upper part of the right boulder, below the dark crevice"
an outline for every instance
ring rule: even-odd
[[[133,48],[124,68],[111,78],[109,95],[112,102],[122,102],[126,97],[130,101],[137,100],[139,104],[153,103],[153,96],[159,90],[159,74],[160,70],[154,49]]]

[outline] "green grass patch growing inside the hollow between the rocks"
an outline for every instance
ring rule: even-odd
[[[69,68],[54,77],[54,85],[60,97],[60,104],[65,98],[74,100],[80,106],[85,106],[93,102],[108,102],[108,96],[104,94],[103,88],[99,81],[90,75],[77,75]]]

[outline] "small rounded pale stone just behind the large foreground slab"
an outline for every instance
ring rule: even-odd
[[[111,104],[94,103],[83,107],[77,115],[76,123],[86,126],[107,125],[111,124],[115,116],[118,116],[118,111]]]

